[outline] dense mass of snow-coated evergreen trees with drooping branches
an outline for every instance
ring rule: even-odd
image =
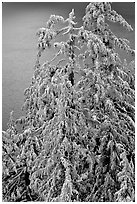
[[[135,201],[134,62],[116,47],[134,50],[109,21],[132,30],[108,2],[90,3],[79,28],[72,10],[39,29],[26,115],[3,131],[4,201]]]

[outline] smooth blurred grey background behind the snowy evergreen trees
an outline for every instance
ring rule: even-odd
[[[87,2],[4,2],[2,3],[2,129],[7,129],[9,114],[13,110],[15,118],[23,113],[21,107],[26,89],[33,75],[37,54],[36,32],[46,25],[51,14],[68,17],[75,9],[78,26],[82,24]],[[135,3],[114,2],[112,8],[121,14],[135,28]],[[135,32],[128,32],[119,24],[111,23],[112,31],[119,37],[130,40],[135,48]],[[119,51],[121,59],[128,62],[133,58]],[[45,52],[45,59],[52,55]]]

